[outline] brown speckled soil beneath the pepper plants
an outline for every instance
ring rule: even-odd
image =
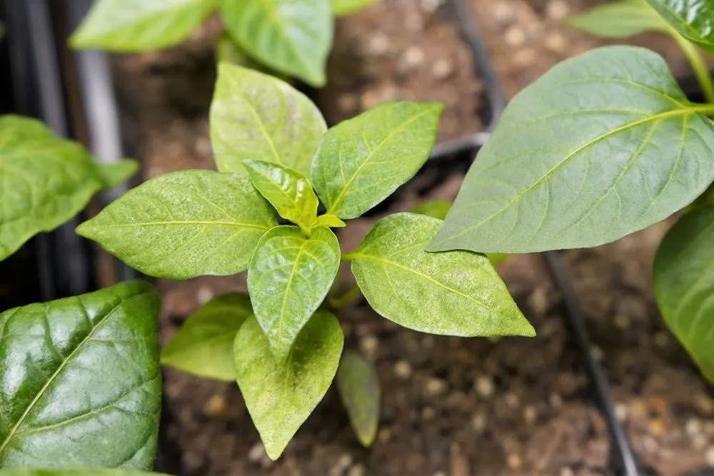
[[[383,79],[371,78],[368,86],[340,90],[338,95],[355,98],[356,106],[350,111],[373,106],[362,106],[362,97],[366,91],[381,88],[374,85],[392,84],[397,97],[424,99],[407,96],[413,93],[409,88],[416,86],[399,83],[393,75],[396,61],[410,46],[423,45],[425,55],[431,51],[431,44],[422,43],[421,35],[399,26],[408,24],[407,11],[416,11],[424,29],[441,28],[437,22],[424,20],[433,15],[425,13],[433,8],[426,4],[385,1],[355,17],[363,18],[363,25],[350,26],[347,22],[354,20],[341,20],[347,26],[344,32],[338,26],[336,48],[339,38],[355,35],[350,33],[354,29],[363,31],[360,48],[371,44],[375,35],[384,35],[391,45],[387,51],[393,55]],[[394,13],[400,5],[405,9],[402,16]],[[558,59],[600,44],[561,24],[567,14],[584,5],[560,0],[479,0],[474,5],[480,9],[484,36],[509,95]],[[389,12],[394,29],[379,30],[379,15],[374,11]],[[521,34],[513,28],[527,34],[526,39],[521,41]],[[531,32],[538,35],[530,36],[535,35]],[[215,79],[211,44],[218,33],[218,26],[209,24],[176,49],[117,59],[125,126],[144,163],[146,178],[183,168],[213,167],[207,111]],[[443,46],[439,58],[451,58],[463,46],[453,38],[454,44]],[[670,45],[658,37],[651,41],[648,46],[665,53],[675,71],[687,71]],[[453,74],[461,75],[454,61]],[[434,66],[428,59],[423,64]],[[428,74],[425,71],[420,74]],[[443,84],[450,83],[445,79]],[[471,96],[478,91],[478,81],[472,83],[473,89],[460,84],[446,88],[464,87],[463,98],[478,97]],[[478,101],[464,111],[473,113],[475,106]],[[470,124],[461,122],[461,131],[454,136],[471,133]],[[387,208],[402,211],[425,199],[453,199],[468,159],[457,158],[449,165],[458,166],[428,166]],[[353,248],[376,218],[351,221],[340,230],[343,248]],[[714,466],[714,400],[711,389],[663,326],[650,292],[652,256],[669,224],[660,223],[600,248],[563,254],[593,333],[592,351],[607,370],[618,417],[625,422],[635,450],[643,464],[658,474],[678,476]],[[181,455],[174,462],[181,464],[183,475],[191,476],[610,474],[605,422],[593,405],[578,349],[565,328],[560,297],[540,257],[514,255],[498,270],[538,337],[425,335],[399,328],[363,302],[340,313],[346,345],[361,350],[381,380],[381,427],[370,449],[361,447],[352,435],[338,395],[331,389],[283,457],[271,462],[236,385],[167,370],[166,437]],[[345,276],[348,287],[349,273]],[[198,305],[218,293],[245,290],[245,279],[238,275],[180,283],[158,280],[157,285],[164,295],[160,331],[166,342]]]

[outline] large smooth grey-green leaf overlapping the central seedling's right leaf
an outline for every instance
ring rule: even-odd
[[[508,105],[427,249],[586,248],[661,221],[714,180],[712,112],[653,51],[563,61]]]

